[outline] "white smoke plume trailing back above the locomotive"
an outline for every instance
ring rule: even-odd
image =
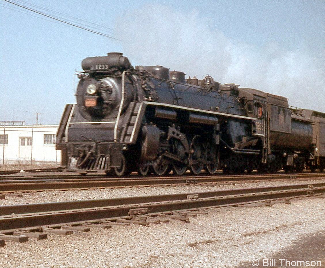
[[[117,20],[116,33],[134,65],[163,65],[199,79],[210,74],[220,83],[256,88],[287,97],[290,105],[325,112],[324,61],[277,44],[259,50],[241,44],[211,30],[209,20],[196,10],[146,5]]]

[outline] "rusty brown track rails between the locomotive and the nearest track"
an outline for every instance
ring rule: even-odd
[[[46,177],[45,177],[46,178]],[[149,178],[103,178],[103,177],[79,177],[37,180],[8,180],[0,182],[0,194],[24,193],[47,190],[67,189],[93,189],[106,187],[131,187],[143,185],[175,185],[190,183],[242,183],[256,181],[276,180],[304,180],[322,179],[325,173],[303,173],[303,174],[269,174],[269,175],[239,175],[239,176],[170,176],[170,177],[149,177]]]

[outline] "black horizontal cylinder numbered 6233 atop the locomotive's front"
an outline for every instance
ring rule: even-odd
[[[89,57],[81,62],[81,67],[86,73],[126,70],[130,68],[130,61],[123,53],[110,52],[104,57]]]

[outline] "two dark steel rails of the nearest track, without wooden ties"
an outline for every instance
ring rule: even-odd
[[[311,186],[312,185],[312,186]],[[149,213],[324,193],[325,183],[250,188],[204,193],[70,201],[0,207],[0,231],[40,225],[127,216],[132,208]],[[195,199],[192,199],[195,198]]]

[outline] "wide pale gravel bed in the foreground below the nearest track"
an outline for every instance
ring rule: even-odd
[[[235,267],[271,258],[302,236],[325,232],[324,196],[294,198],[290,205],[207,211],[189,223],[171,220],[30,238],[22,244],[6,241],[0,267]]]

